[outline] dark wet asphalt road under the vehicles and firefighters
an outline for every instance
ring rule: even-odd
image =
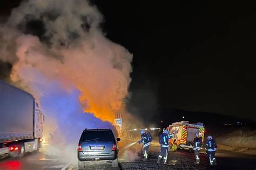
[[[186,151],[169,152],[168,164],[156,164],[159,146],[151,145],[149,160],[142,161],[141,146],[135,144],[127,148],[130,141],[119,143],[119,167],[116,169],[256,169],[256,157],[233,152],[218,151],[217,167],[208,166],[208,158],[201,154],[201,164],[194,165],[194,154]],[[74,151],[76,152],[76,151]],[[4,158],[0,160],[1,170],[11,169],[78,169],[75,161],[45,154],[44,149],[26,154],[22,159]],[[88,162],[87,169],[113,169],[111,162]]]

